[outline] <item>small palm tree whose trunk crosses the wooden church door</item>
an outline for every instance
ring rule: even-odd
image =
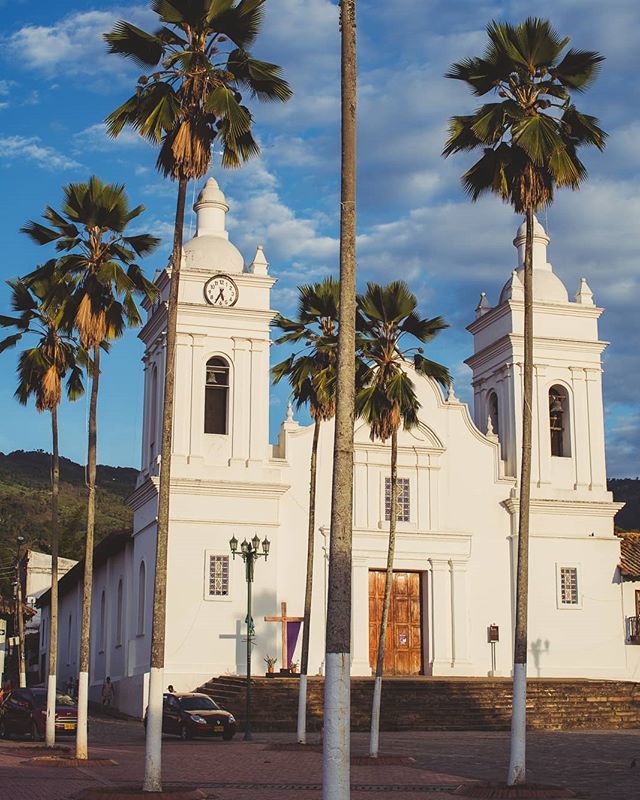
[[[369,755],[372,758],[378,756],[382,672],[393,585],[399,499],[398,429],[401,424],[405,430],[420,424],[420,402],[407,368],[411,364],[419,375],[432,378],[442,386],[451,382],[447,368],[425,358],[422,347],[405,346],[407,337],[410,341],[427,344],[448,327],[442,317],[420,317],[417,305],[416,296],[404,281],[393,281],[387,286],[369,283],[365,294],[358,297],[358,329],[362,334],[362,357],[368,365],[368,374],[366,385],[358,393],[357,411],[369,425],[372,441],[380,439],[384,443],[391,439],[389,547],[371,710]]]

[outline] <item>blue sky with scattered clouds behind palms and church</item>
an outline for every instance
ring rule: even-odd
[[[153,26],[146,4],[22,0],[3,6],[0,77],[0,181],[3,259],[0,278],[24,274],[44,260],[18,229],[57,206],[61,187],[95,173],[124,181],[144,203],[141,228],[163,248],[148,274],[165,262],[175,187],[154,171],[154,151],[133,134],[110,142],[104,117],[132,91],[139,69],[109,56],[101,34],[118,18]],[[449,365],[456,392],[470,398],[471,352],[465,331],[480,291],[497,301],[515,265],[517,220],[488,198],[471,204],[460,189],[461,158],[440,157],[447,120],[474,99],[442,76],[448,65],[484,46],[492,19],[546,16],[578,48],[607,57],[580,107],[610,133],[603,154],[586,156],[590,179],[578,193],[560,192],[541,221],[552,237],[555,271],[570,295],[586,275],[606,307],[605,356],[608,472],[640,473],[637,307],[640,302],[640,97],[635,0],[539,0],[535,5],[473,0],[359,3],[359,276],[384,282],[404,277],[425,314],[451,323],[432,350]],[[278,278],[274,307],[289,312],[302,281],[337,272],[339,191],[339,58],[337,7],[329,0],[268,0],[264,33],[254,48],[281,64],[295,90],[286,106],[254,106],[261,159],[240,171],[213,173],[227,194],[231,237],[245,258],[264,244]],[[192,189],[189,192],[191,194]],[[190,215],[187,220],[192,222]],[[0,308],[8,292],[0,286]],[[135,332],[105,359],[99,408],[99,461],[137,466],[142,405],[142,347]],[[278,357],[278,353],[274,353]],[[13,399],[15,351],[0,361],[0,450],[49,447],[49,422]],[[274,390],[271,429],[286,407]],[[65,405],[61,447],[85,457],[86,403]]]

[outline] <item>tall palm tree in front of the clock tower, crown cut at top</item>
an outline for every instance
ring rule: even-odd
[[[167,308],[166,367],[162,415],[158,534],[154,575],[151,673],[144,789],[160,791],[162,691],[166,615],[167,544],[171,485],[171,440],[175,382],[178,287],[187,183],[203,177],[217,140],[222,165],[239,167],[260,152],[253,117],[240,90],[263,101],[285,102],[291,89],[280,67],[253,58],[247,48],[262,27],[265,0],[152,0],[160,27],[154,33],[120,20],[105,35],[109,52],[130,58],[150,74],[107,117],[118,136],[126,125],[160,145],[157,168],[178,182]]]

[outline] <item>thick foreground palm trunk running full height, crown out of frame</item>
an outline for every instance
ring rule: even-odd
[[[323,800],[350,796],[351,539],[356,319],[356,2],[341,0],[340,330],[324,681]]]

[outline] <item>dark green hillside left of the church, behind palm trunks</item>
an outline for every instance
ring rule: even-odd
[[[15,557],[18,534],[34,549],[49,552],[51,455],[42,450],[0,453],[0,594],[10,593],[7,568]],[[98,466],[96,541],[131,527],[125,498],[135,486],[137,470]],[[60,555],[80,559],[84,550],[87,491],[82,465],[60,458]]]

